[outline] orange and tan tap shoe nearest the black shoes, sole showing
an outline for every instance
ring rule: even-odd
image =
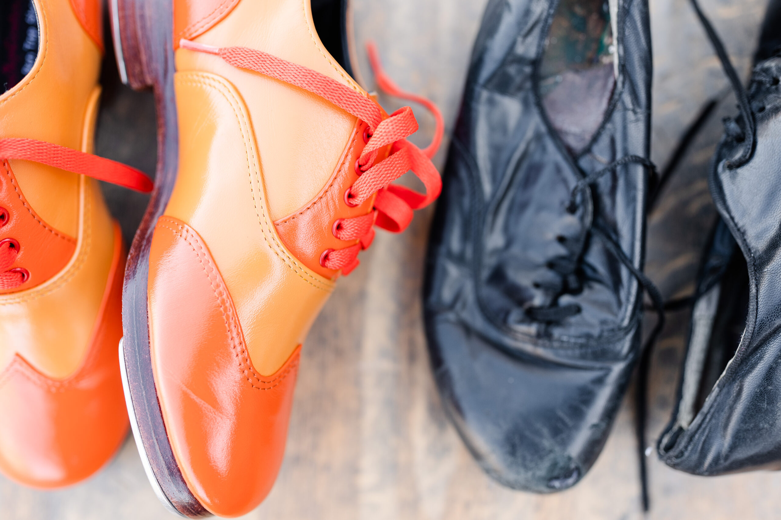
[[[337,15],[336,47],[315,3]],[[233,517],[273,486],[301,343],[337,277],[373,225],[401,232],[438,195],[442,129],[419,150],[412,110],[387,115],[352,79],[347,2],[165,4],[112,0],[120,72],[155,89],[162,143],[130,247],[123,382],[162,502]],[[391,184],[408,170],[426,193]]]

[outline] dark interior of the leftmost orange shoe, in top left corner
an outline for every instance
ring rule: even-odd
[[[0,2],[0,85],[5,92],[19,83],[38,55],[38,20],[32,0]]]

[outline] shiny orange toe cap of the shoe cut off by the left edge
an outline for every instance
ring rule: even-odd
[[[0,470],[36,487],[76,483],[100,469],[127,434],[116,345],[124,253],[119,226],[86,359],[71,377],[53,380],[22,356],[0,373]]]

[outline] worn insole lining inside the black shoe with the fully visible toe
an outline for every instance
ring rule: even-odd
[[[572,154],[601,126],[615,87],[617,0],[560,0],[540,61],[540,97]]]

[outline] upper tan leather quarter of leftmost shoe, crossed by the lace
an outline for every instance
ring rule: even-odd
[[[34,0],[40,27],[37,61],[0,96],[0,137],[27,137],[82,147],[101,51],[84,32],[70,2]],[[28,161],[11,161],[20,188],[53,228],[77,235],[79,176]]]

